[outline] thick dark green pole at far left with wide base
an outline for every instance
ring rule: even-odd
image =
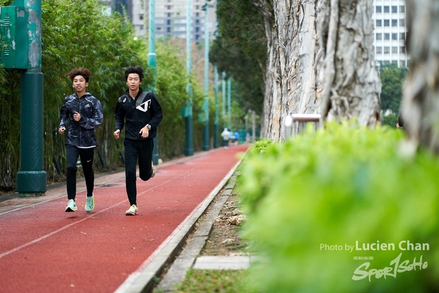
[[[43,141],[43,73],[41,73],[41,0],[15,1],[29,11],[27,21],[27,71],[20,86],[20,171],[19,196],[43,196],[47,190]]]

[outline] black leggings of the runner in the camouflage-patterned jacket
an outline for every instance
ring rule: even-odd
[[[84,171],[87,196],[93,195],[95,185],[95,174],[93,172],[93,156],[95,148],[78,148],[74,145],[66,145],[67,156],[67,197],[74,200],[76,197],[76,162],[78,156],[81,159],[82,170]]]

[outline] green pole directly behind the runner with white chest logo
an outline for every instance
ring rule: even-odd
[[[157,54],[156,54],[156,0],[150,0],[148,11],[149,22],[149,53],[148,65],[152,67],[152,86],[150,91],[156,93],[157,84]],[[154,149],[152,150],[152,163],[158,165],[157,138],[154,138]]]

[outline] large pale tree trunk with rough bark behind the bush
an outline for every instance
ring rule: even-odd
[[[264,8],[270,28],[261,135],[284,139],[289,113],[321,113],[337,121],[357,117],[360,125],[375,126],[381,82],[372,45],[372,2],[254,3]]]

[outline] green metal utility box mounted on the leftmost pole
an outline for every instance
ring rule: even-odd
[[[27,21],[23,7],[0,7],[0,62],[4,69],[27,69]]]

